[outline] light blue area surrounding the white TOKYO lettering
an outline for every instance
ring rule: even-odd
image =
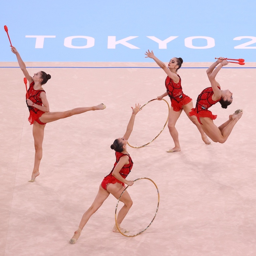
[[[2,1],[0,17],[0,61],[16,61],[4,25],[7,25],[13,46],[24,61],[96,61],[96,62],[147,62],[145,51],[169,61],[182,57],[185,62],[211,62],[214,57],[243,58],[255,62],[256,49],[234,49],[250,39],[233,40],[239,36],[256,37],[256,1],[250,0],[199,0],[199,1]],[[54,35],[46,38],[43,49],[35,48],[35,38],[26,35]],[[64,38],[90,36],[95,45],[87,49],[64,46]],[[121,44],[107,49],[107,37],[116,40],[138,36],[127,41],[140,49]],[[164,40],[178,36],[158,49],[158,43],[147,38]],[[190,49],[184,39],[192,36],[212,37],[215,46],[210,49]],[[72,41],[83,46],[84,39]],[[193,40],[195,46],[205,46],[205,40]],[[256,43],[250,46],[256,48]]]

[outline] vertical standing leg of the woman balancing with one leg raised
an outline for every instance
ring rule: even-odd
[[[35,144],[35,162],[34,169],[32,172],[31,180],[29,182],[34,182],[35,178],[40,174],[39,165],[43,156],[43,136],[44,136],[44,128],[45,125],[40,125],[38,122],[34,122],[33,124],[33,137]]]

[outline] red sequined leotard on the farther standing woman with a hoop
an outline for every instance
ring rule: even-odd
[[[171,105],[174,111],[181,110],[183,105],[186,105],[192,101],[192,99],[189,96],[183,93],[182,87],[181,87],[181,77],[179,75],[178,77],[179,77],[178,84],[176,84],[172,80],[172,78],[170,78],[169,76],[167,76],[165,79],[165,87],[166,87],[168,96],[171,99]]]

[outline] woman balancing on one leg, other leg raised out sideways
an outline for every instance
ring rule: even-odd
[[[27,105],[30,113],[28,121],[31,125],[33,125],[33,137],[36,152],[34,169],[32,172],[31,180],[29,180],[29,182],[34,182],[35,178],[40,174],[39,165],[43,155],[42,144],[44,128],[46,123],[53,122],[58,119],[66,118],[69,116],[81,114],[89,110],[104,109],[106,108],[106,106],[104,104],[99,104],[93,107],[78,107],[63,112],[49,112],[49,103],[46,99],[46,93],[43,90],[42,85],[46,84],[46,82],[51,78],[51,76],[43,71],[39,71],[35,73],[33,77],[31,77],[28,74],[25,63],[22,61],[16,48],[12,47],[11,50],[14,54],[16,54],[19,66],[30,85],[28,89],[27,99]]]

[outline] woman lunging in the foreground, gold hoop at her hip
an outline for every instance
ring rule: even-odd
[[[131,168],[133,166],[133,162],[131,160],[130,155],[127,152],[126,145],[127,140],[131,135],[134,119],[136,114],[140,111],[140,105],[135,104],[135,108],[132,108],[131,118],[127,125],[127,129],[124,137],[116,139],[113,144],[110,146],[111,149],[115,150],[116,153],[116,162],[114,163],[114,167],[109,175],[107,175],[102,183],[99,186],[99,191],[96,198],[93,201],[93,204],[89,207],[89,209],[84,213],[82,219],[80,221],[78,230],[75,231],[74,236],[70,239],[69,243],[74,244],[78,238],[80,237],[81,231],[84,228],[84,225],[90,219],[90,217],[95,213],[99,207],[103,204],[103,202],[107,199],[109,194],[112,194],[116,199],[119,199],[121,193],[125,188],[125,184],[132,186],[133,181],[127,181],[125,178],[131,172]],[[118,228],[122,233],[128,233],[129,231],[125,228],[120,228],[121,222],[125,218],[129,209],[132,206],[132,200],[127,190],[122,194],[120,199],[121,202],[124,203],[124,206],[118,213],[117,216],[117,224]],[[113,227],[113,232],[119,232],[116,224]]]

